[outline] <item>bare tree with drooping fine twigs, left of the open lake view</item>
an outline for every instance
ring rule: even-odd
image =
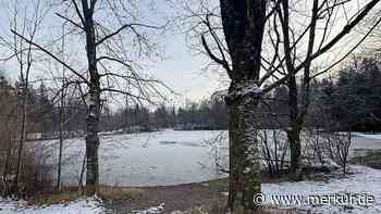
[[[56,13],[57,16],[72,26],[70,32],[74,38],[83,41],[87,62],[84,71],[63,62],[49,47],[12,29],[14,35],[65,66],[76,78],[73,83],[79,83],[87,89],[86,194],[96,193],[99,184],[98,126],[103,100],[101,95],[123,93],[136,100],[152,102],[150,96],[164,98],[158,87],[168,89],[161,81],[140,75],[138,64],[131,59],[131,55],[137,55],[138,59],[155,52],[147,29],[164,29],[163,26],[139,21],[134,13],[135,3],[139,2],[65,0],[58,7],[61,11]],[[131,90],[127,91],[121,83],[131,86]]]

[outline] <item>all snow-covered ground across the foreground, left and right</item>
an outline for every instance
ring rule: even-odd
[[[266,204],[280,207],[298,207],[311,210],[312,213],[331,214],[331,213],[381,213],[381,171],[369,168],[367,166],[351,165],[354,174],[345,178],[333,178],[327,182],[323,181],[297,181],[263,184],[262,192],[266,196]],[[333,194],[352,194],[374,197],[372,203],[362,206],[362,203],[342,203],[329,205],[311,205],[308,203],[278,203],[271,200],[271,196],[333,196]],[[304,198],[306,199],[306,198]],[[287,202],[287,201],[283,201]],[[290,201],[288,201],[290,202]],[[28,206],[25,201],[12,201],[0,198],[0,214],[106,214],[111,213],[102,207],[99,199],[81,199],[69,204],[54,204],[48,206]],[[165,204],[159,204],[155,207],[147,207],[133,212],[135,214],[157,214],[165,213]]]

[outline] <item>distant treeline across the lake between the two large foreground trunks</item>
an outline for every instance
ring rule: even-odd
[[[225,129],[226,110],[222,99],[187,102],[185,106],[165,106],[156,110],[135,104],[115,113],[105,109],[101,116],[105,130],[149,131],[163,128],[182,130]]]

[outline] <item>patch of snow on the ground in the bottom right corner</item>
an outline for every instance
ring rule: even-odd
[[[374,202],[370,206],[358,204],[294,204],[294,207],[310,210],[312,213],[381,213],[381,171],[367,166],[351,165],[355,174],[342,179],[331,179],[323,181],[296,181],[280,184],[263,184],[262,193],[266,196],[266,203],[276,205],[271,196],[332,196],[332,194],[364,194],[374,197]],[[290,204],[288,204],[290,206]]]

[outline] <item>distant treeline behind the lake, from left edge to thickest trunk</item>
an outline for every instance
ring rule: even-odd
[[[0,78],[1,104],[9,111],[2,111],[1,118],[14,118],[17,123],[22,106],[22,90],[20,81],[11,84],[4,77]],[[58,91],[59,92],[59,91]],[[47,88],[44,83],[38,87],[27,89],[26,133],[32,138],[41,136],[50,138],[58,135],[60,128],[60,100],[58,92]],[[82,135],[86,129],[87,108],[81,95],[65,98],[63,106],[63,130],[65,135],[76,133]],[[152,131],[164,128],[173,129],[225,129],[226,112],[223,99],[188,101],[184,106],[167,106],[161,104],[149,109],[142,104],[128,104],[118,111],[102,106],[99,129],[101,131],[119,130],[124,133]],[[5,122],[5,121],[4,121]],[[38,134],[36,136],[36,134]],[[70,137],[70,136],[69,136]]]

